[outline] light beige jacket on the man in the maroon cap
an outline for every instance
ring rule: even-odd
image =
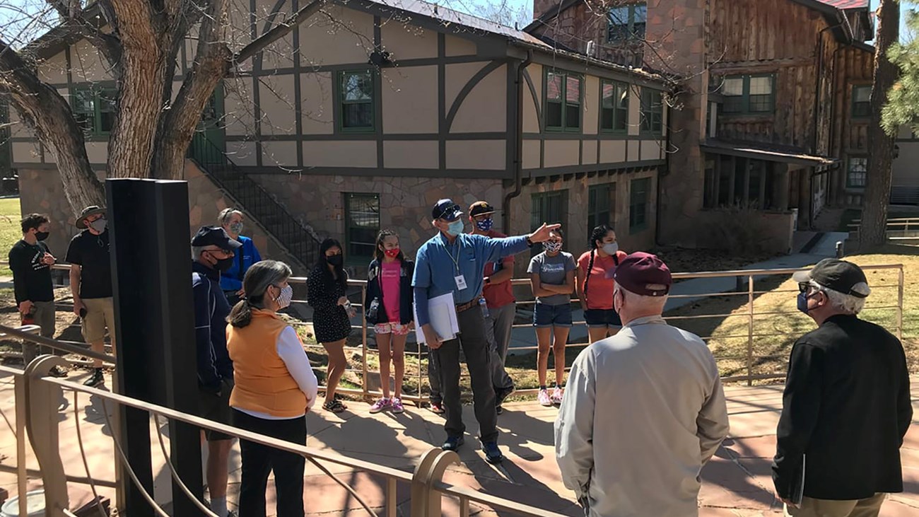
[[[555,421],[555,454],[591,517],[696,516],[699,471],[727,434],[705,342],[651,316],[578,355]]]

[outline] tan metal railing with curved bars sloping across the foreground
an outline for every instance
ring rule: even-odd
[[[4,332],[14,330],[3,328]],[[20,336],[19,329],[17,332],[8,332],[17,337]],[[25,333],[24,339],[41,342],[48,346],[54,346],[47,340],[33,339]],[[67,350],[66,344],[62,344],[60,350]],[[55,347],[57,348],[57,347]],[[108,357],[107,361],[111,362],[113,358]],[[42,479],[42,489],[45,495],[45,511],[50,517],[62,515],[72,515],[70,501],[67,490],[67,483],[76,483],[88,485],[93,493],[96,508],[100,515],[106,517],[107,513],[102,509],[102,499],[98,495],[98,487],[115,487],[119,486],[117,479],[97,479],[90,470],[90,462],[87,459],[83,433],[81,431],[81,415],[79,412],[79,396],[93,396],[101,401],[106,423],[110,432],[108,435],[113,441],[115,462],[120,464],[124,472],[128,474],[131,482],[142,492],[143,499],[151,505],[155,514],[167,517],[167,513],[154,500],[154,494],[149,493],[142,487],[136,473],[128,463],[124,449],[119,442],[119,432],[115,431],[112,421],[108,417],[108,404],[112,407],[126,406],[130,408],[141,409],[147,412],[151,419],[155,421],[153,428],[156,429],[157,439],[160,445],[160,452],[163,454],[164,466],[168,469],[170,475],[176,481],[182,492],[174,493],[173,499],[178,497],[189,497],[194,499],[195,504],[205,515],[215,517],[202,501],[195,499],[189,488],[177,476],[175,466],[170,458],[168,448],[163,436],[160,418],[173,419],[197,426],[202,430],[220,431],[234,437],[244,439],[250,442],[260,443],[280,451],[293,454],[300,454],[306,460],[319,468],[327,477],[331,477],[346,492],[349,497],[354,498],[360,506],[372,517],[385,516],[397,517],[403,515],[399,509],[399,500],[397,498],[398,488],[400,485],[407,485],[411,488],[412,498],[403,506],[408,505],[410,517],[440,517],[441,502],[443,497],[454,498],[459,502],[460,514],[469,515],[470,504],[475,502],[483,506],[491,507],[494,510],[510,511],[523,517],[562,517],[562,514],[545,511],[543,509],[528,506],[514,500],[506,500],[482,493],[469,488],[456,487],[443,483],[443,475],[449,465],[459,465],[459,455],[454,452],[441,451],[439,448],[432,448],[422,455],[414,473],[405,472],[385,465],[377,465],[362,460],[348,458],[334,453],[327,453],[315,450],[305,445],[298,445],[293,442],[278,440],[267,435],[258,434],[252,431],[245,431],[229,425],[224,425],[209,419],[202,419],[175,409],[165,408],[149,402],[145,402],[129,396],[122,396],[111,393],[106,390],[100,390],[84,385],[74,384],[62,379],[54,379],[48,376],[49,371],[55,365],[63,363],[62,358],[54,356],[40,356],[35,361],[29,363],[25,372],[12,369],[6,366],[0,366],[0,377],[12,376],[15,384],[16,393],[16,423],[14,432],[17,441],[17,490],[19,495],[26,494],[28,475],[27,469],[28,455],[26,450],[26,435],[28,433],[28,442],[31,443],[32,450],[39,460],[41,470],[39,472]],[[67,475],[64,472],[61,458],[61,442],[59,440],[58,428],[62,423],[58,418],[58,402],[62,399],[64,393],[70,393],[74,401],[74,425],[77,434],[77,445],[80,448],[85,468],[85,477],[76,477]],[[8,423],[8,422],[7,422]],[[117,424],[116,424],[117,425]],[[357,490],[348,485],[345,481],[335,476],[325,465],[342,465],[347,468],[367,473],[373,477],[383,480],[380,488],[384,494],[382,506],[375,506],[368,502],[364,496],[357,493]],[[32,471],[32,474],[35,474]],[[304,487],[309,491],[311,488]],[[26,515],[27,499],[19,498],[19,514]],[[91,510],[91,508],[90,508]],[[123,508],[119,508],[119,514],[125,514]]]

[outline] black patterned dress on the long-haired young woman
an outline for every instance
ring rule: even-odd
[[[347,273],[346,273],[347,279]],[[345,296],[345,286],[335,281],[332,272],[323,267],[310,271],[307,302],[312,307],[312,328],[320,343],[332,343],[351,334],[351,320],[338,299]]]

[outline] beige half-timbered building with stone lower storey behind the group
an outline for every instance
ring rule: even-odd
[[[253,2],[253,12],[274,13],[254,26],[234,12],[232,40],[244,44],[302,2]],[[183,49],[183,73],[193,49]],[[106,67],[85,41],[45,58],[43,78],[70,98],[104,175]],[[192,188],[192,224],[230,203],[259,218],[241,183],[210,187],[210,168],[233,167],[317,236],[342,239],[355,264],[383,227],[402,232],[404,247],[419,245],[441,197],[490,201],[510,233],[557,221],[577,248],[588,226],[613,223],[623,247],[651,247],[666,87],[660,76],[424,2],[330,4],[215,93],[186,167],[204,185]],[[62,247],[73,214],[53,158],[21,125],[14,131],[22,209],[51,213],[51,244]],[[224,153],[227,163],[213,158]],[[272,235],[277,221],[262,219],[265,238],[284,245]]]

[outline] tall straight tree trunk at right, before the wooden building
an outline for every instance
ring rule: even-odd
[[[874,86],[871,89],[871,124],[868,126],[868,178],[865,186],[860,245],[879,246],[887,240],[887,208],[891,200],[891,162],[894,137],[880,125],[881,109],[888,92],[900,76],[900,69],[888,59],[888,51],[900,37],[900,3],[880,0],[878,35],[875,39]]]

